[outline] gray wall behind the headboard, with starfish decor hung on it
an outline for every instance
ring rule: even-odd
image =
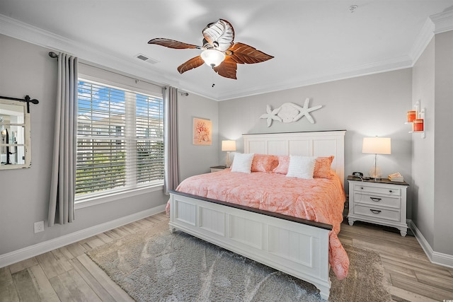
[[[363,137],[391,137],[391,155],[378,156],[383,175],[400,172],[411,182],[411,134],[406,112],[411,110],[411,69],[360,76],[353,79],[320,83],[255,95],[248,98],[225,100],[219,103],[219,139],[236,139],[243,151],[241,134],[266,132],[297,132],[346,129],[345,175],[353,171],[368,174],[374,155],[362,153]],[[310,98],[310,107],[323,105],[311,112],[315,124],[306,117],[293,123],[273,122],[267,127],[260,115],[266,105],[273,109],[285,102],[304,105]],[[224,152],[219,153],[224,161]],[[348,182],[345,181],[345,185]],[[348,187],[345,188],[348,191]],[[411,188],[408,193],[408,218],[411,218]]]

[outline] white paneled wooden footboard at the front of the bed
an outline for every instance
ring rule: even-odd
[[[328,298],[330,225],[174,191],[170,202],[172,231],[189,233],[308,281]]]

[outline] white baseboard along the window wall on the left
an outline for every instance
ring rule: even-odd
[[[166,204],[0,255],[0,268],[165,211]]]

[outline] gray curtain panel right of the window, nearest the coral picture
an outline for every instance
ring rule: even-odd
[[[162,90],[164,95],[164,193],[178,187],[178,88],[171,86]]]

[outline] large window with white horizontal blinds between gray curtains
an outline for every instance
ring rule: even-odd
[[[76,198],[164,183],[162,98],[79,81]]]

